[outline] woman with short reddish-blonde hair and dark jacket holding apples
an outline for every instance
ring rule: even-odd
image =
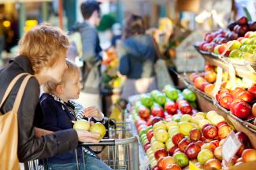
[[[69,48],[69,38],[56,27],[42,24],[33,27],[20,39],[20,56],[0,70],[0,100],[10,83],[18,74],[34,75],[28,81],[18,111],[18,157],[20,162],[52,157],[76,149],[80,142],[98,142],[98,134],[74,129],[62,130],[49,135],[35,137],[34,123],[38,113],[40,85],[47,81],[61,81],[65,71],[65,56]],[[23,77],[24,78],[24,77]],[[13,87],[8,99],[0,108],[6,114],[13,109],[17,90],[23,78]]]

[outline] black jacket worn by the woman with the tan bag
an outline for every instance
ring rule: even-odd
[[[6,67],[0,70],[0,101],[10,81],[18,74],[24,72],[34,74],[32,63],[25,56],[17,56]],[[20,78],[13,87],[8,99],[2,108],[0,108],[2,114],[6,114],[9,110],[12,110],[17,91],[23,78]],[[76,131],[73,129],[54,132],[53,134],[40,138],[35,137],[34,120],[37,116],[35,110],[39,103],[39,94],[39,82],[36,78],[31,78],[28,81],[18,111],[18,157],[20,162],[52,157],[56,154],[65,153],[68,150],[74,150],[78,145],[78,137]]]

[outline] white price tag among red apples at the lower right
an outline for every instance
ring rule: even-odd
[[[235,133],[231,132],[229,136],[225,139],[221,150],[224,161],[231,161],[232,157],[235,156],[237,150],[239,150],[239,147],[241,145],[242,143],[240,143],[239,139],[236,138]]]

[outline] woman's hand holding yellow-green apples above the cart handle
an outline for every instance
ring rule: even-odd
[[[98,133],[83,131],[83,130],[76,130],[78,140],[82,143],[98,143],[100,140]]]

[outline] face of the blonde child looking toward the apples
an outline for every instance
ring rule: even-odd
[[[65,82],[65,85],[63,85],[63,96],[68,100],[78,99],[81,88],[80,74],[70,74],[69,79]]]

